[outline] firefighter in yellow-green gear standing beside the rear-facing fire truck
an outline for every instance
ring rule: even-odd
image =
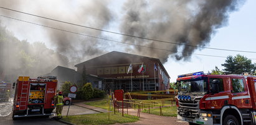
[[[55,98],[55,106],[56,106],[56,114],[57,114],[57,118],[61,119],[62,118],[62,109],[63,109],[63,96],[62,96],[62,92],[59,92],[59,95],[56,95]]]

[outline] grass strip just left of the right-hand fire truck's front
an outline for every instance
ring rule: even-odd
[[[160,115],[160,108],[153,108],[153,109],[149,109],[150,114],[156,114],[156,115]],[[143,113],[148,113],[148,108],[147,109],[143,109],[142,110]],[[162,107],[162,113],[163,116],[177,116],[177,107],[176,106],[167,106],[167,107]]]

